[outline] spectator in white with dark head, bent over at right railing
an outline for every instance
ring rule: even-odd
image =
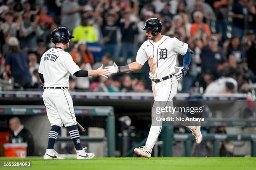
[[[225,67],[223,74],[223,77],[213,81],[206,87],[205,93],[220,94],[237,92],[238,82],[235,80],[236,70],[232,67]]]

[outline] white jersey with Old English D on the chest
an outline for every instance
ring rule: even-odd
[[[187,48],[187,43],[164,35],[158,42],[145,41],[138,50],[136,61],[144,65],[148,60],[150,78],[158,79],[175,73],[177,54],[186,54]]]

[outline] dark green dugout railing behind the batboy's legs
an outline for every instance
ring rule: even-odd
[[[103,116],[106,122],[106,136],[102,138],[81,136],[82,141],[107,141],[108,157],[115,156],[115,115],[113,107],[109,106],[74,106],[76,116]],[[0,115],[46,115],[43,105],[0,105]],[[70,141],[70,137],[57,138],[57,141]]]

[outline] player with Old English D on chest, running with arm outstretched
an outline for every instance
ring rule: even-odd
[[[192,51],[188,45],[179,41],[177,38],[171,38],[161,35],[162,24],[157,18],[146,20],[145,27],[148,40],[139,48],[136,56],[136,62],[129,65],[118,67],[115,63],[113,66],[105,67],[104,70],[111,73],[131,72],[140,70],[144,63],[148,60],[150,67],[149,77],[152,80],[152,90],[155,101],[172,101],[177,93],[177,80],[186,75],[191,61]],[[175,74],[175,64],[177,54],[183,55],[183,66],[177,67],[179,72]],[[152,113],[153,115],[153,113]],[[152,120],[155,119],[151,116]],[[146,146],[135,148],[134,152],[145,158],[151,157],[152,149],[161,132],[162,123],[160,125],[151,125]],[[202,140],[200,126],[186,126],[195,135],[196,142],[199,144]]]

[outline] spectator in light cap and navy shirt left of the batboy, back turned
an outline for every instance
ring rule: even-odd
[[[31,75],[28,67],[28,55],[20,50],[16,37],[8,40],[10,52],[6,54],[5,71],[13,75],[15,82],[24,88],[31,87]]]

